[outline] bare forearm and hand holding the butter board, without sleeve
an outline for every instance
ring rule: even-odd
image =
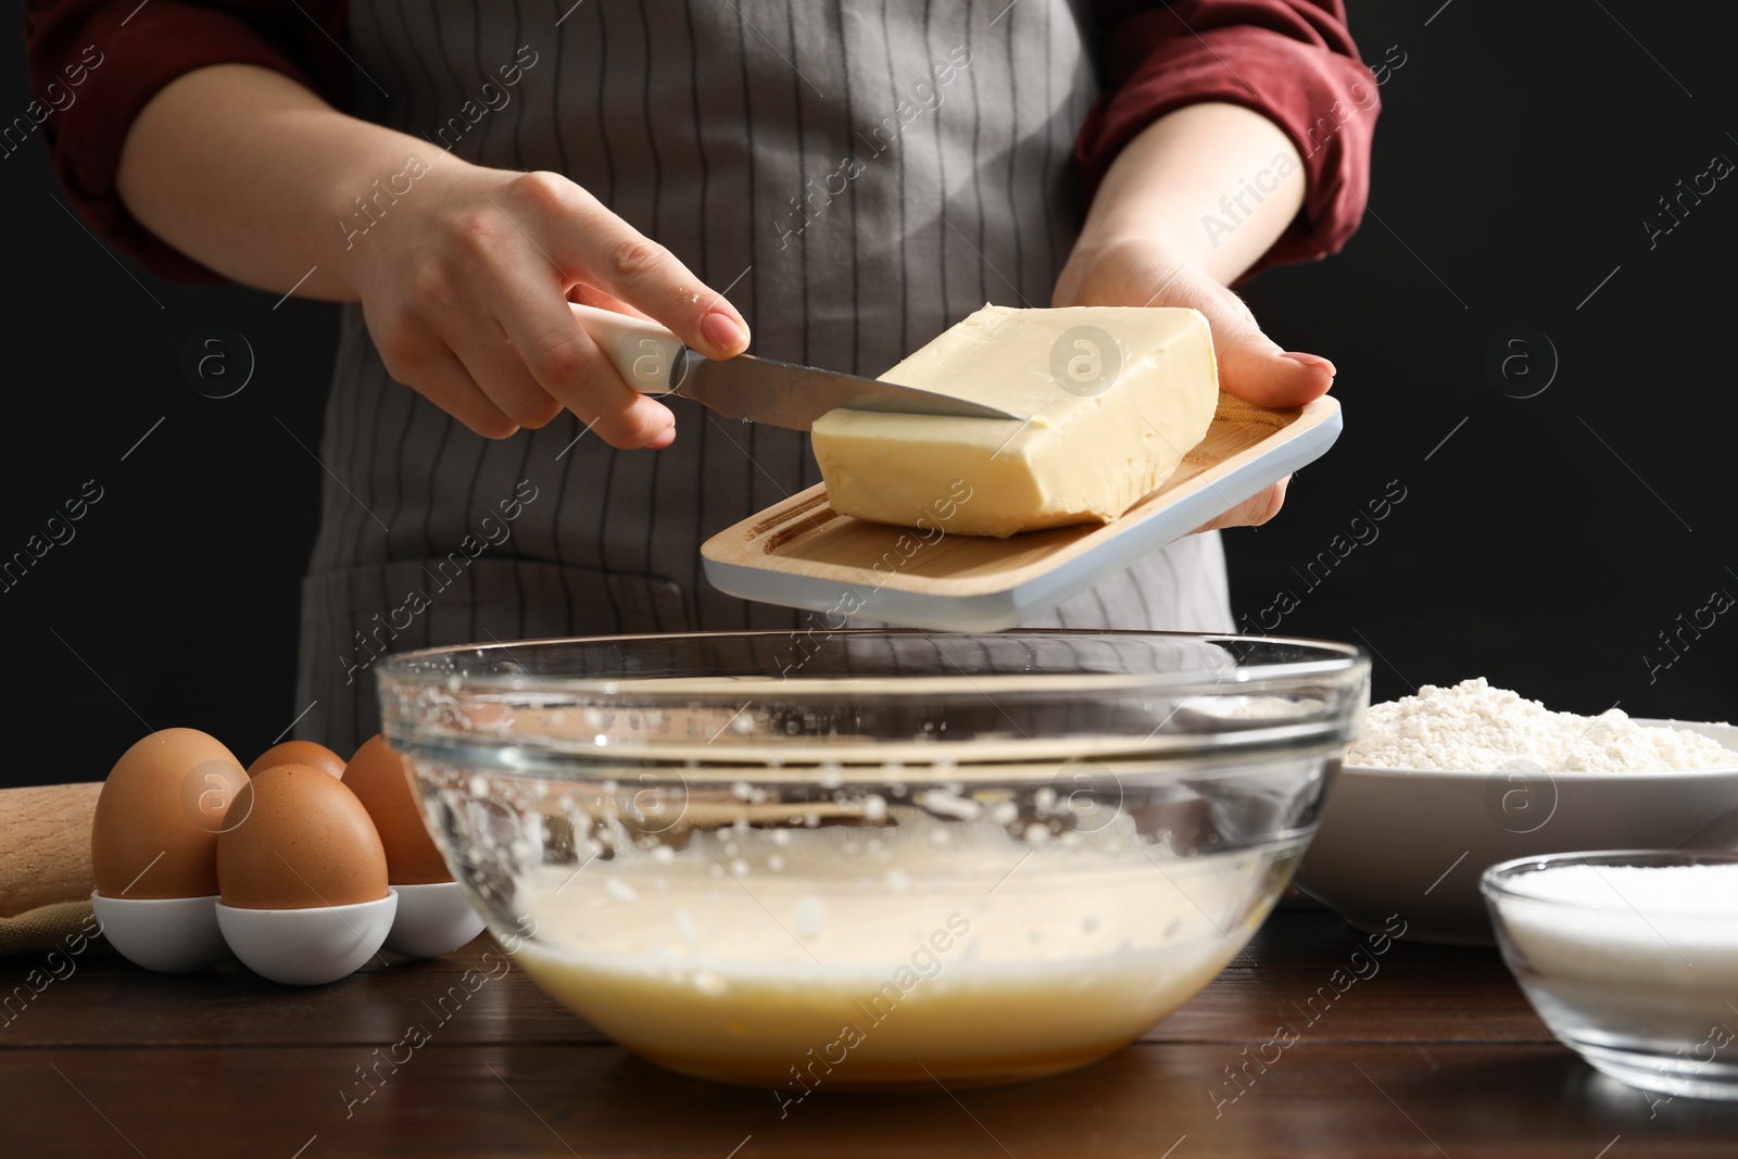
[[[1293,177],[1258,205],[1244,203],[1253,212],[1229,240],[1208,240],[1196,222],[1220,212],[1220,191],[1239,189],[1248,184],[1239,176],[1284,158]],[[1051,306],[1192,306],[1213,330],[1220,389],[1258,407],[1321,398],[1333,386],[1333,363],[1279,349],[1225,288],[1274,243],[1302,200],[1302,163],[1272,122],[1231,104],[1177,109],[1135,137],[1105,174]],[[1279,514],[1288,483],[1290,476],[1196,530],[1265,523]]]

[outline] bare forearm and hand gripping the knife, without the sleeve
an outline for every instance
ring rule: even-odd
[[[568,292],[714,358],[747,346],[735,308],[572,181],[471,165],[252,64],[163,87],[127,132],[118,186],[210,269],[360,301],[388,372],[480,434],[565,407],[617,447],[674,438],[671,412],[574,321]]]

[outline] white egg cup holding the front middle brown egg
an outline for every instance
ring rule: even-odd
[[[379,952],[398,912],[388,890],[375,902],[313,909],[242,909],[217,902],[222,938],[254,973],[283,985],[325,985]]]

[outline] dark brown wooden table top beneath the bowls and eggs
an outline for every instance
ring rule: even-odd
[[[1495,950],[1392,944],[1347,983],[1359,947],[1331,914],[1281,911],[1095,1067],[998,1089],[822,1089],[786,1117],[768,1091],[626,1055],[518,970],[441,1022],[485,940],[313,990],[233,964],[158,977],[92,949],[0,1025],[0,1156],[1738,1156],[1738,1105],[1649,1110],[1550,1037]],[[36,964],[0,963],[5,992]],[[358,1069],[410,1023],[431,1041],[365,1086]]]

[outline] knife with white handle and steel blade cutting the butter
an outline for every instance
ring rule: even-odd
[[[820,415],[845,407],[1020,422],[1018,415],[1006,410],[914,386],[860,379],[853,374],[753,354],[706,358],[683,346],[681,339],[655,321],[577,302],[570,306],[580,328],[610,356],[627,386],[641,394],[692,398],[732,419],[806,431]]]

